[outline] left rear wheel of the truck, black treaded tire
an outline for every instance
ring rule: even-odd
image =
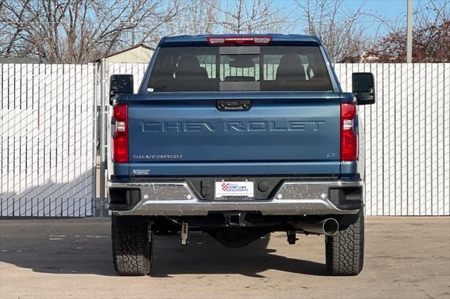
[[[113,260],[117,274],[143,276],[150,273],[153,233],[146,218],[113,215],[111,221]]]

